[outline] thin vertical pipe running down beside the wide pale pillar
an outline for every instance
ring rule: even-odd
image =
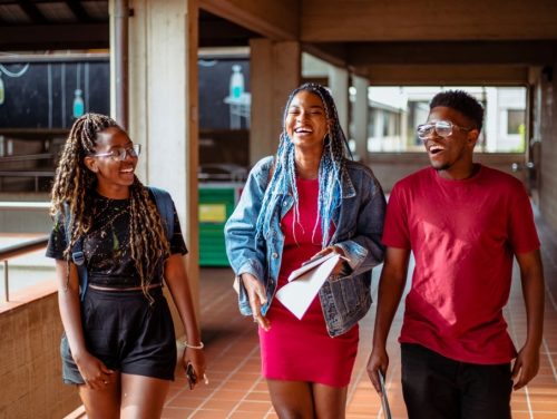
[[[114,22],[114,62],[115,62],[115,116],[116,121],[128,129],[128,17],[129,8],[127,0],[115,1]]]

